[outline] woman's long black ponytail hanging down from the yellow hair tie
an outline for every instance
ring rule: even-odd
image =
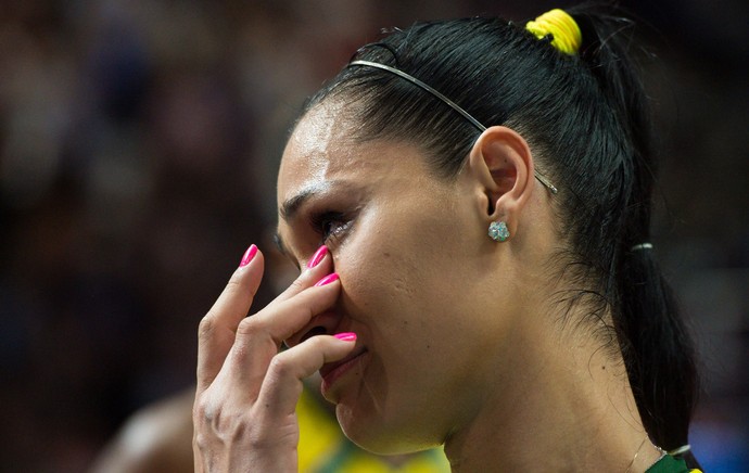
[[[632,145],[621,172],[631,181],[620,217],[609,274],[618,294],[613,317],[619,344],[637,408],[652,442],[673,450],[688,444],[689,421],[698,381],[694,345],[648,244],[656,161],[647,97],[635,65],[627,60],[634,24],[588,8],[570,13],[581,25],[585,42],[581,57],[597,79]],[[684,456],[698,466],[694,456]]]

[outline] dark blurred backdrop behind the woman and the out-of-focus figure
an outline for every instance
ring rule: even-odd
[[[568,2],[0,1],[0,470],[86,471],[193,382],[304,98],[382,27]],[[656,252],[695,329],[707,471],[749,471],[749,3],[622,1],[663,150]],[[264,287],[263,298],[276,291]]]

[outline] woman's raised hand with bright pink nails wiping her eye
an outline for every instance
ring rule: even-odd
[[[296,472],[302,380],[355,345],[318,335],[279,353],[283,340],[332,307],[341,283],[337,276],[322,280],[332,269],[326,255],[267,307],[245,317],[263,268],[263,254],[253,245],[200,323],[192,414],[196,472]]]

